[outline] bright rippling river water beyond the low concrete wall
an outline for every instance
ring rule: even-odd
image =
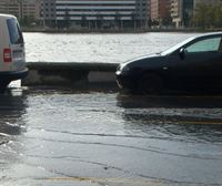
[[[161,52],[198,33],[24,33],[28,62],[121,63]]]

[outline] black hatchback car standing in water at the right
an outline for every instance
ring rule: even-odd
[[[122,63],[118,85],[131,92],[222,90],[222,32],[190,38],[169,50]]]

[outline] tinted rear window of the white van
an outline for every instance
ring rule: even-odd
[[[11,44],[21,44],[23,43],[23,37],[21,33],[21,30],[18,25],[18,22],[16,19],[8,19],[7,20],[7,25],[9,29],[9,35],[10,35],[10,41]]]

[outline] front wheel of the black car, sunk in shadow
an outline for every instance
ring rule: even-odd
[[[155,73],[147,73],[138,82],[138,92],[142,94],[160,94],[162,79]]]

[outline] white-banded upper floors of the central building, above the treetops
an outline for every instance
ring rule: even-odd
[[[64,20],[69,14],[70,20],[131,20],[135,12],[135,0],[57,0],[57,20]]]

